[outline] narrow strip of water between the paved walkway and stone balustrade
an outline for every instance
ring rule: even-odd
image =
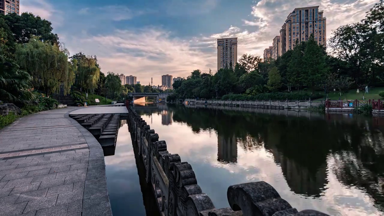
[[[116,149],[116,151],[115,151]],[[109,199],[114,216],[159,216],[153,192],[145,180],[144,164],[138,160],[121,120],[115,146],[103,147]]]

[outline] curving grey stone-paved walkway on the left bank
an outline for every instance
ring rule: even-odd
[[[104,155],[68,107],[0,131],[0,216],[112,215]]]

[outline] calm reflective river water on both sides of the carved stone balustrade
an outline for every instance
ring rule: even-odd
[[[170,153],[192,165],[216,208],[228,207],[228,186],[266,181],[299,211],[383,215],[383,118],[175,105],[135,109]],[[155,208],[152,192],[139,178],[142,165],[126,124],[115,154],[105,160],[113,214],[155,215],[146,210]]]

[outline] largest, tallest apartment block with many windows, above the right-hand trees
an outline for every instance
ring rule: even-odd
[[[281,54],[292,50],[296,41],[307,41],[311,34],[319,45],[326,46],[326,18],[319,6],[295,8],[280,30]]]

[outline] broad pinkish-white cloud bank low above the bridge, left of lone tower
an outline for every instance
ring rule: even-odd
[[[66,45],[71,53],[81,47],[84,53],[97,55],[104,72],[135,75],[143,84],[153,77],[154,84],[161,85],[164,74],[186,77],[194,69],[215,69],[216,56],[211,52],[200,51],[193,42],[171,38],[170,32],[159,28],[76,37]]]

